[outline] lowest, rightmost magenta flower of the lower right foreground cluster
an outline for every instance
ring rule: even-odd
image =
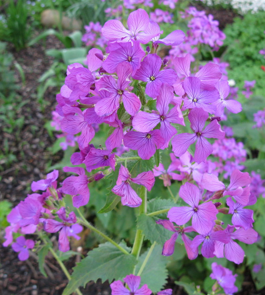
[[[253,244],[257,241],[258,233],[249,228],[248,230],[244,230],[242,227],[234,232],[235,226],[231,226],[228,224],[225,231],[230,236],[230,241],[227,244],[224,244],[221,241],[215,241],[215,251],[214,254],[216,257],[224,257],[233,261],[236,264],[243,262],[244,259],[244,250],[233,240],[239,240],[246,244]]]

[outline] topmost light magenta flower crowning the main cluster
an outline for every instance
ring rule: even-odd
[[[146,34],[145,30],[149,25],[149,17],[145,10],[137,9],[129,14],[126,30],[123,24],[111,19],[107,21],[102,28],[102,35],[108,40],[118,40],[119,42],[129,42],[138,40],[143,44],[148,43],[156,34]]]

